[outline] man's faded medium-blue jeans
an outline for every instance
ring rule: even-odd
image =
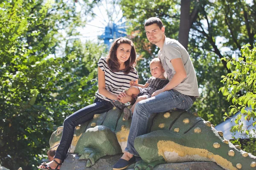
[[[157,96],[142,100],[137,103],[131,121],[131,128],[128,136],[125,151],[139,156],[134,148],[134,139],[146,133],[148,117],[152,113],[170,111],[173,108],[188,110],[193,105],[193,100],[175,90],[165,91]]]

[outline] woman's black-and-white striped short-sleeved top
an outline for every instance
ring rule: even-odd
[[[98,62],[98,66],[102,71],[105,73],[105,88],[107,91],[111,92],[112,94],[119,94],[123,92],[125,89],[129,88],[130,81],[136,81],[138,79],[137,70],[134,68],[134,71],[131,71],[128,74],[125,74],[124,71],[113,72],[108,68],[107,58],[101,57]],[[99,93],[99,90],[96,91],[96,97],[100,99],[104,99],[107,101],[111,101],[107,97],[103,96]]]

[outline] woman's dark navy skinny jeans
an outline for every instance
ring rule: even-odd
[[[67,119],[64,120],[61,142],[58,145],[54,158],[61,159],[62,162],[64,161],[67,155],[67,151],[70,148],[74,130],[77,125],[93,119],[93,115],[95,114],[104,113],[111,110],[112,108],[113,105],[111,102],[96,98],[92,105],[88,105],[68,116]]]

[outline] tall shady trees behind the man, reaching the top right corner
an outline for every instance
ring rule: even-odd
[[[231,104],[218,93],[222,85],[219,75],[230,72],[227,62],[221,58],[234,55],[239,57],[238,45],[241,47],[248,39],[256,42],[253,27],[256,16],[253,5],[255,2],[248,4],[243,0],[121,0],[120,3],[125,11],[124,15],[131,23],[129,32],[134,38],[137,51],[143,57],[138,65],[143,81],[149,77],[148,62],[156,57],[159,50],[146,39],[143,24],[149,17],[156,16],[163,21],[166,37],[177,39],[184,46],[186,41],[189,42],[188,52],[201,92],[201,97],[191,110],[198,112],[212,124],[220,123],[223,113],[229,111]],[[189,32],[187,40],[186,32]]]

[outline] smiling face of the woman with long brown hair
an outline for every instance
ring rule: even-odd
[[[131,45],[122,43],[116,49],[116,57],[118,62],[121,64],[122,62],[126,62],[131,55]]]

